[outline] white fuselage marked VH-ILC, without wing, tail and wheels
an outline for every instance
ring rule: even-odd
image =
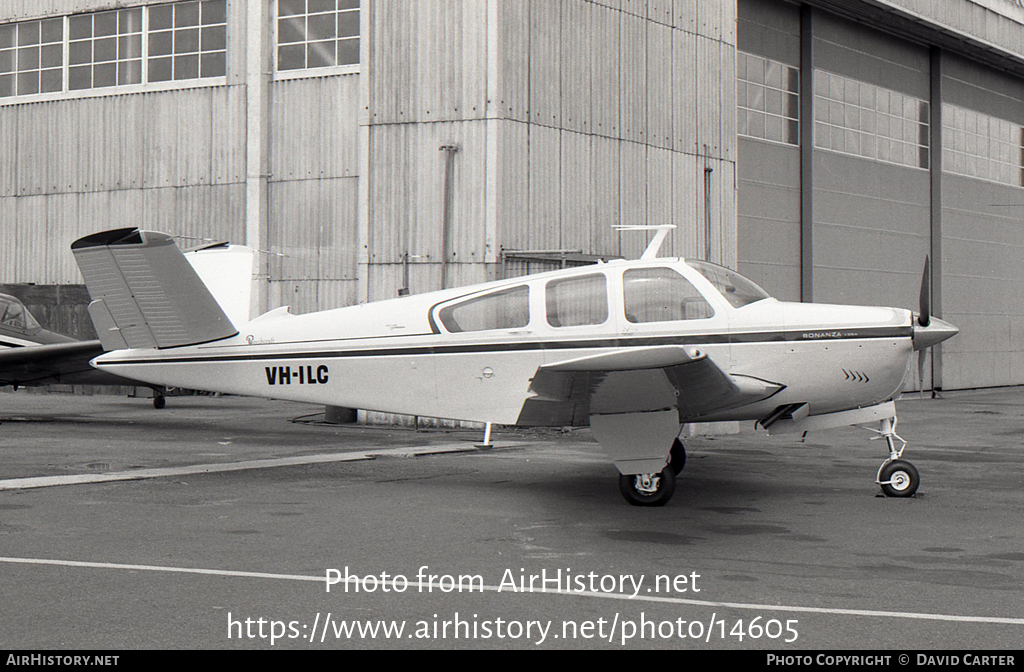
[[[279,309],[228,339],[119,350],[94,365],[160,385],[503,424],[517,422],[540,367],[658,345],[782,386],[688,421],[759,419],[783,404],[833,413],[899,391],[913,352],[909,310],[780,302],[722,272],[622,261],[303,316]]]

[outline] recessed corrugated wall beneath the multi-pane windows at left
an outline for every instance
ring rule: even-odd
[[[0,20],[133,4],[153,3],[12,1]],[[163,230],[182,247],[246,242],[246,10],[228,0],[226,85],[4,100],[0,281],[81,283],[69,245],[102,228]],[[270,307],[356,300],[357,104],[357,75],[270,85]]]

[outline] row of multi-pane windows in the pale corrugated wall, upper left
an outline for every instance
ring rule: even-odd
[[[226,5],[186,0],[0,25],[0,98],[223,78]],[[359,0],[273,6],[275,72],[358,69]]]

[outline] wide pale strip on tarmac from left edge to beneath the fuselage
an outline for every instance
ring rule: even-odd
[[[504,448],[505,445],[503,444]],[[187,476],[197,473],[221,473],[225,471],[245,471],[248,469],[268,469],[272,467],[292,467],[305,464],[329,464],[332,462],[360,462],[378,457],[422,457],[450,453],[475,453],[479,449],[472,444],[438,444],[435,446],[413,446],[407,448],[385,448],[376,451],[360,451],[353,453],[330,453],[323,455],[304,455],[297,457],[282,457],[265,460],[247,460],[244,462],[224,462],[219,464],[195,464],[180,467],[159,467],[152,469],[129,469],[127,471],[110,471],[106,473],[77,473],[61,476],[32,476],[28,478],[8,478],[0,480],[0,491],[29,490],[33,488],[54,488],[56,486],[81,486],[84,484],[112,482],[117,480],[142,480],[146,478],[164,478],[167,476]]]

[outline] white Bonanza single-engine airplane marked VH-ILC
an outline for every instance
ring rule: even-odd
[[[589,424],[637,505],[672,497],[685,423],[770,432],[878,423],[877,482],[912,495],[894,397],[915,350],[957,333],[920,313],[787,303],[728,268],[639,260],[232,324],[170,237],[72,245],[106,350],[97,368],[154,384],[518,426]],[[249,278],[245,279],[249,282]],[[899,442],[899,448],[896,443]]]

